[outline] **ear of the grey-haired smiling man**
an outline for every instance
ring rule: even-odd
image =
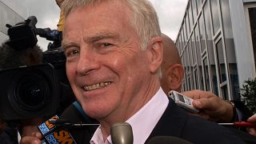
[[[148,47],[150,53],[150,71],[155,73],[162,63],[162,38],[152,38],[150,43],[151,45]]]

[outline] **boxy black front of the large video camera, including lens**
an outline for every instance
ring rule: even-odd
[[[10,121],[21,118],[51,116],[58,109],[58,79],[54,66],[42,64],[0,71],[1,118]]]

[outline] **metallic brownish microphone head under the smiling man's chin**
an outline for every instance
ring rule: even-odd
[[[133,130],[129,123],[115,123],[110,128],[110,135],[113,144],[133,144]]]

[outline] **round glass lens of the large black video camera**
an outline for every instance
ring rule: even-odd
[[[15,99],[25,110],[38,110],[50,94],[49,82],[39,74],[27,74],[18,81]]]

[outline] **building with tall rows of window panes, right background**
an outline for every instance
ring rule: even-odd
[[[183,90],[239,98],[255,78],[256,0],[189,0],[176,39],[185,68]]]

